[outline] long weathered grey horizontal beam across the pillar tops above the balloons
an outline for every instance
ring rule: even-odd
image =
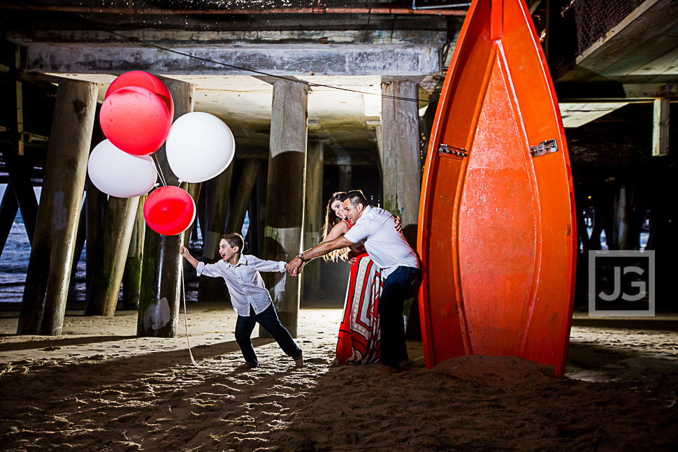
[[[27,53],[27,71],[195,75],[433,75],[442,71],[441,45],[200,45],[161,50],[140,43],[90,45],[38,43]],[[255,50],[256,49],[256,50]],[[210,61],[204,56],[209,55]],[[219,64],[213,61],[224,61]],[[253,72],[252,70],[256,71]]]

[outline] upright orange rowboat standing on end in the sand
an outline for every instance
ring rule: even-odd
[[[552,365],[561,377],[577,244],[572,176],[553,84],[521,0],[470,7],[422,187],[427,367],[510,355]]]

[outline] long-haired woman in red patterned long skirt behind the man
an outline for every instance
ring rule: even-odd
[[[323,242],[334,240],[347,233],[351,224],[344,218],[344,196],[339,191],[327,203]],[[396,229],[400,221],[396,218]],[[345,261],[351,256],[344,313],[339,327],[337,362],[339,364],[374,363],[380,358],[379,311],[377,302],[382,291],[381,269],[377,267],[365,247],[356,244],[349,249],[338,249],[327,254],[325,261]]]

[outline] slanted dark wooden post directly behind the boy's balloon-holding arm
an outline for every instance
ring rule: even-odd
[[[233,162],[223,173],[205,183],[205,229],[203,235],[203,258],[205,263],[219,260],[219,240],[226,230],[226,217],[229,213],[229,197]],[[228,300],[228,289],[222,278],[199,277],[199,301]]]

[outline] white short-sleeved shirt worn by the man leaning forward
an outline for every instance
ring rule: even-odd
[[[344,234],[344,238],[353,243],[364,240],[365,249],[382,269],[384,277],[398,267],[419,268],[417,254],[394,226],[391,212],[368,205],[356,224]]]

